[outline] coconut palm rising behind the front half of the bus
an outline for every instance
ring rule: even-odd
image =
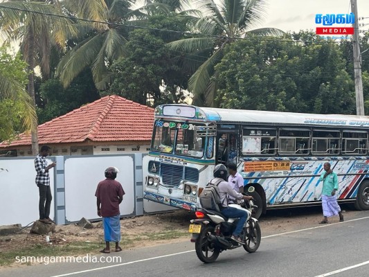
[[[215,65],[222,59],[224,47],[237,38],[251,36],[282,35],[276,28],[252,29],[264,17],[266,0],[197,0],[202,17],[195,25],[197,37],[170,42],[174,51],[190,54],[188,62],[197,71],[188,81],[188,89],[194,94],[196,105],[214,107],[217,84],[212,76],[217,74]]]

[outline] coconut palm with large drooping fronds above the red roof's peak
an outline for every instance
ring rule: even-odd
[[[85,38],[74,46],[60,61],[57,74],[67,87],[86,67],[90,67],[97,89],[106,89],[113,73],[109,66],[126,54],[125,44],[131,28],[129,24],[139,24],[147,17],[145,10],[163,9],[161,3],[148,3],[133,9],[134,1],[127,0],[65,0],[63,5],[77,18],[89,19],[81,25],[86,26]],[[78,21],[78,19],[76,19]]]

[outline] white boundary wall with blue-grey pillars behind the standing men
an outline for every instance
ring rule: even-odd
[[[116,166],[120,172],[116,180],[125,190],[120,204],[122,217],[172,210],[170,206],[143,200],[142,161],[145,154],[51,156],[48,163],[57,161],[50,171],[51,215],[57,224],[77,222],[82,217],[98,219],[96,187],[105,179],[104,171]],[[22,226],[39,218],[39,193],[35,184],[33,157],[0,158],[0,203],[3,211],[0,225]],[[8,170],[8,171],[7,171]]]

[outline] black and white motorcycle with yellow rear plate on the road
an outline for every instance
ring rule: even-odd
[[[249,187],[248,192],[253,193],[253,191],[255,188]],[[251,216],[246,220],[240,234],[240,238],[244,240],[245,244],[231,240],[238,218],[227,218],[217,211],[198,208],[195,211],[197,219],[190,221],[188,231],[192,233],[191,242],[195,242],[196,254],[201,262],[215,262],[219,253],[228,249],[243,246],[247,252],[253,253],[260,246],[260,225],[258,220],[252,217],[258,206],[253,204],[253,200],[250,200],[249,203],[241,200],[239,204],[229,204],[228,206],[251,212]]]

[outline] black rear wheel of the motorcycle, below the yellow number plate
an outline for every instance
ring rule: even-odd
[[[219,250],[212,247],[208,241],[208,235],[213,231],[214,227],[212,226],[202,226],[201,233],[195,242],[196,255],[201,262],[215,262],[219,256]]]

